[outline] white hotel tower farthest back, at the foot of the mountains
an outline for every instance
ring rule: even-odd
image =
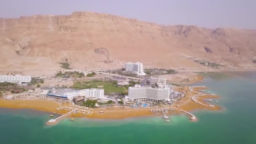
[[[143,64],[140,62],[136,63],[125,63],[125,70],[131,71],[137,75],[146,75],[145,72],[143,72]]]

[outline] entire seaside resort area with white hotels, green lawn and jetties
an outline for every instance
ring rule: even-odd
[[[150,114],[163,115],[165,121],[168,122],[170,121],[168,115],[175,113],[184,113],[190,116],[190,120],[195,120],[195,116],[187,109],[180,107],[179,104],[186,105],[191,101],[198,107],[218,108],[202,101],[209,101],[209,99],[200,96],[213,96],[202,93],[203,90],[198,90],[198,88],[205,88],[204,86],[187,87],[182,84],[167,84],[167,78],[163,78],[166,76],[159,76],[174,74],[162,71],[164,70],[145,69],[146,75],[143,72],[143,64],[129,62],[125,64],[125,69],[104,69],[95,72],[67,69],[56,71],[55,76],[51,77],[32,78],[21,75],[2,75],[1,82],[9,83],[1,83],[4,86],[0,88],[8,91],[3,94],[3,98],[6,100],[34,100],[35,103],[40,100],[42,103],[56,102],[58,106],[50,111],[61,114],[61,116],[51,116],[52,119],[48,121],[48,124],[57,123],[62,118],[69,116],[125,118]],[[19,85],[20,83],[26,84]],[[51,83],[55,85],[51,85]],[[188,93],[190,96],[187,96]],[[23,102],[18,106],[26,107]],[[34,107],[36,106],[33,105],[29,108]],[[49,111],[48,107],[51,105],[38,107]],[[91,109],[95,109],[95,113],[92,114]],[[135,109],[139,114],[136,114]]]

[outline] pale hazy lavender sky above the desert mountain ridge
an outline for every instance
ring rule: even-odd
[[[256,29],[256,0],[1,0],[0,17],[109,13],[157,24]]]

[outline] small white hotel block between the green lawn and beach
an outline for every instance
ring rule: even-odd
[[[99,88],[88,88],[83,89],[80,91],[80,96],[85,96],[85,98],[88,97],[103,97],[104,96],[104,89]]]

